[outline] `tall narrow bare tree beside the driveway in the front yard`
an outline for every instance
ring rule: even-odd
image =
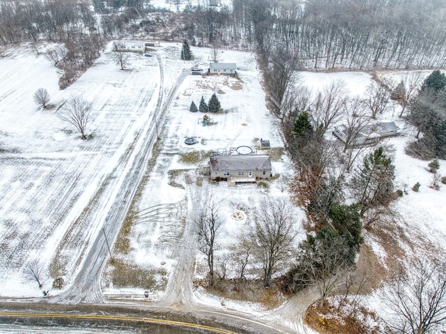
[[[206,255],[208,262],[209,285],[214,284],[215,239],[222,226],[222,219],[218,215],[218,204],[208,199],[206,206],[194,220],[195,230],[199,236],[199,250]]]

